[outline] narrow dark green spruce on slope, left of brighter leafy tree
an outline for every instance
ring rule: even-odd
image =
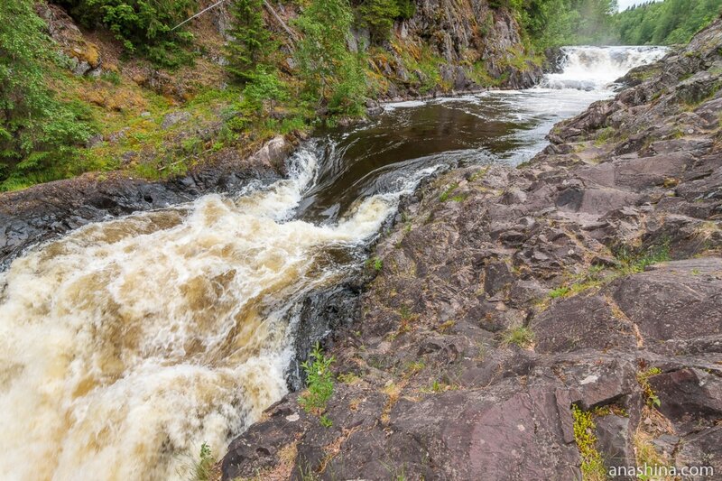
[[[230,5],[233,40],[227,45],[227,70],[241,83],[255,79],[259,64],[266,63],[272,51],[263,9],[263,0],[233,0]]]

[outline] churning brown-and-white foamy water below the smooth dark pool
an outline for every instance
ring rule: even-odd
[[[285,392],[289,310],[348,266],[397,192],[337,226],[289,220],[313,180],[93,224],[0,274],[3,479],[182,479]],[[421,172],[420,176],[429,172]]]

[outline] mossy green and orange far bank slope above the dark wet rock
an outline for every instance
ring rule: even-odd
[[[324,96],[312,100],[304,87],[310,80],[297,58],[303,37],[297,24],[301,5],[264,4],[262,22],[274,53],[265,60],[268,71],[245,85],[227,71],[227,44],[233,38],[229,4],[189,23],[189,32],[183,34],[192,42],[158,49],[155,60],[126,51],[116,34],[89,20],[97,12],[86,16],[78,6],[57,4],[38,2],[34,12],[23,11],[23,22],[42,28],[33,37],[38,51],[31,63],[44,72],[37,83],[43,84],[48,98],[69,109],[70,125],[78,132],[71,140],[51,137],[57,145],[46,140],[51,145],[33,147],[48,151],[42,162],[23,162],[32,148],[21,149],[13,140],[18,135],[10,135],[0,163],[0,191],[88,171],[98,172],[98,180],[121,174],[178,180],[218,158],[247,157],[274,136],[355,121],[366,110],[377,109],[379,101],[480,88],[529,88],[542,77],[542,56],[532,51],[518,15],[484,0],[414,7],[410,16],[389,21],[383,38],[372,36],[365,23],[355,23],[335,51],[356,58],[353,75],[337,72],[352,78],[346,83],[338,79],[341,85],[329,79],[333,88],[325,94],[342,99],[341,106]],[[198,7],[211,4],[200,0]],[[185,60],[168,64],[179,55]],[[13,95],[31,99],[22,88],[22,83],[14,85],[18,91]],[[36,119],[41,116],[42,110],[33,112]],[[52,125],[51,119],[44,124]],[[15,127],[7,128],[12,134]]]

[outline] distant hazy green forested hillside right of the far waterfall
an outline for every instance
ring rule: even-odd
[[[717,18],[722,0],[648,2],[616,14],[619,42],[629,45],[672,45],[692,36]]]

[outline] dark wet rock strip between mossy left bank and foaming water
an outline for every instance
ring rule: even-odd
[[[122,138],[123,130],[108,139]],[[203,193],[236,192],[252,180],[272,181],[282,173],[293,143],[275,141],[261,157],[244,159],[236,153],[191,169],[179,179],[153,182],[112,174],[99,181],[93,174],[48,182],[30,189],[0,194],[0,269],[25,248],[60,236],[71,229],[107,217],[165,208],[188,202]],[[270,164],[273,159],[274,165]]]

